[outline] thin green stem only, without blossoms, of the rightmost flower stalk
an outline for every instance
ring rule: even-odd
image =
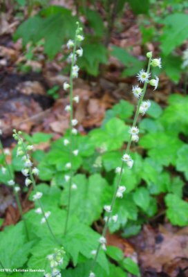
[[[149,73],[150,71],[150,66],[151,66],[151,57],[149,58],[149,63],[148,63],[148,67],[147,67],[147,73]],[[140,105],[142,104],[142,100],[144,98],[144,94],[146,92],[146,89],[147,89],[147,82],[144,82],[144,87],[143,87],[143,91],[142,91],[142,96],[140,97],[139,101],[138,101],[138,107],[136,109],[136,112],[135,112],[135,117],[133,119],[133,127],[135,127],[136,123],[137,123],[137,120],[138,120],[138,116],[139,116],[139,110],[140,110]],[[131,135],[129,136],[129,141],[127,143],[127,146],[126,146],[126,154],[129,154],[129,151],[130,151],[130,147],[131,147]],[[118,193],[118,188],[120,186],[120,183],[122,181],[122,172],[123,172],[123,168],[124,168],[124,161],[122,161],[122,166],[121,166],[121,170],[120,170],[120,176],[118,178],[118,182],[117,182],[117,185],[115,187],[115,192],[113,193],[113,199],[112,199],[112,202],[111,202],[111,211],[113,211],[113,207],[115,205],[115,199],[116,199],[116,195]],[[104,224],[104,229],[102,231],[102,237],[106,237],[106,231],[108,229],[108,226],[109,226],[109,221],[111,219],[111,213],[109,213],[107,219],[106,219],[106,222]],[[95,264],[97,262],[97,257],[99,255],[99,252],[100,252],[100,249],[101,249],[101,244],[99,243],[98,244],[98,247],[97,247],[97,252],[95,254],[95,258],[93,259],[93,263],[91,265],[91,271],[93,271],[93,269],[95,268]]]

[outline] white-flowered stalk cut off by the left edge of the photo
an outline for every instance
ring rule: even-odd
[[[8,184],[10,186],[14,186],[13,191],[14,191],[15,199],[16,199],[16,202],[17,202],[17,206],[19,208],[19,213],[21,215],[21,220],[23,220],[23,224],[24,224],[25,229],[26,229],[26,237],[27,237],[27,239],[29,239],[26,219],[23,216],[23,210],[22,210],[21,202],[19,200],[19,195],[18,195],[18,192],[19,192],[20,188],[19,188],[19,186],[15,186],[15,181],[13,180],[12,172],[10,170],[10,166],[8,165],[8,162],[6,161],[6,154],[5,154],[4,150],[3,150],[3,145],[2,145],[1,140],[0,140],[0,149],[1,149],[1,153],[3,155],[3,161],[6,164],[6,168],[2,168],[1,170],[3,170],[3,172],[6,172],[6,170],[8,170],[8,174],[9,174],[9,177],[10,177],[10,180],[8,181]]]

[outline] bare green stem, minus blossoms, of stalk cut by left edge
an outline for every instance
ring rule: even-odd
[[[9,166],[8,162],[6,161],[6,154],[5,154],[4,150],[3,150],[3,145],[2,145],[1,140],[0,140],[0,149],[1,149],[1,152],[3,154],[3,160],[4,160],[5,164],[6,164],[6,168],[8,170],[9,175],[10,175],[10,179],[13,179],[12,172],[10,170],[10,166]],[[13,191],[14,191],[16,202],[17,202],[17,206],[19,208],[19,213],[21,215],[21,220],[23,220],[23,224],[24,224],[25,229],[26,229],[26,237],[27,237],[27,240],[29,240],[28,228],[27,228],[26,220],[25,220],[25,218],[23,216],[23,210],[22,210],[22,207],[21,207],[21,202],[19,200],[19,196],[18,196],[17,192],[14,189],[13,189]]]

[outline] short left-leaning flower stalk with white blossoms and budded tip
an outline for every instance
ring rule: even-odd
[[[41,224],[46,222],[46,224],[48,226],[48,230],[50,231],[50,234],[52,235],[55,242],[57,244],[59,244],[59,242],[58,242],[57,238],[55,237],[53,230],[51,229],[50,224],[47,220],[47,218],[50,216],[50,212],[46,212],[46,213],[44,212],[44,207],[41,204],[41,200],[40,200],[40,198],[42,197],[42,193],[40,193],[37,190],[35,178],[33,177],[34,174],[35,175],[39,174],[39,170],[37,168],[32,168],[32,162],[30,161],[30,156],[27,152],[27,150],[32,150],[33,146],[28,145],[26,147],[26,145],[23,143],[23,139],[20,136],[21,132],[20,131],[17,132],[15,129],[13,130],[13,132],[14,132],[13,137],[14,137],[14,139],[16,139],[18,141],[18,145],[19,145],[19,148],[17,150],[17,155],[23,156],[22,159],[25,161],[25,168],[22,170],[23,175],[27,177],[25,184],[26,184],[26,186],[29,186],[30,184],[33,185],[33,188],[35,190],[35,195],[33,195],[33,201],[37,201],[39,204],[39,207],[40,207],[35,212],[43,215],[43,218],[41,219]]]

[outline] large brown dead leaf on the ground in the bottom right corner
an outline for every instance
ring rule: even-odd
[[[169,276],[176,276],[185,265],[188,265],[188,228],[180,232],[167,230],[160,226],[158,232],[149,226],[144,226],[138,235],[137,247],[139,260],[144,271],[154,270],[165,272]],[[136,241],[136,240],[135,240]]]

